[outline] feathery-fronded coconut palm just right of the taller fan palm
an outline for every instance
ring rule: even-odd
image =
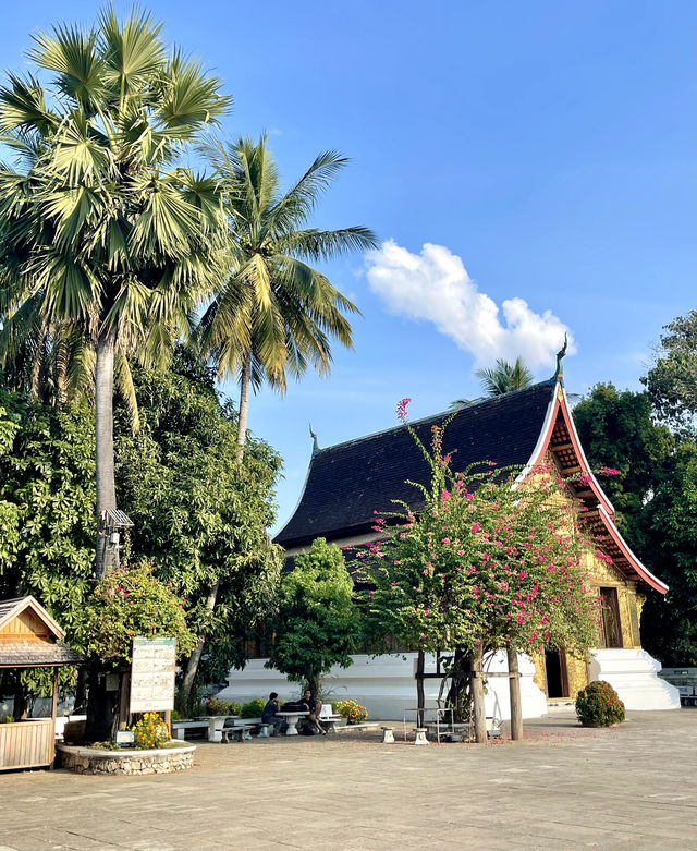
[[[307,260],[375,247],[364,227],[322,231],[305,227],[320,194],[347,163],[337,151],[320,154],[285,194],[262,135],[223,145],[209,141],[204,153],[225,196],[232,265],[201,320],[206,354],[219,376],[240,382],[237,462],[246,435],[249,386],[268,381],[280,392],[286,375],[299,378],[309,365],[329,370],[333,338],[352,345],[344,314],[358,308]]]

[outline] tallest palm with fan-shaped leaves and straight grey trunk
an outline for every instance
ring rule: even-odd
[[[50,352],[64,378],[94,376],[98,578],[118,563],[105,534],[114,367],[127,391],[126,356],[160,362],[224,268],[216,182],[179,157],[229,101],[160,29],[109,8],[89,29],[34,37],[29,60],[52,72],[49,85],[10,74],[0,86],[15,154],[0,168],[0,349],[10,356],[24,340],[32,368]]]

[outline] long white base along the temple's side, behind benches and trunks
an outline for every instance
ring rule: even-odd
[[[370,718],[400,719],[404,709],[416,706],[416,653],[395,656],[358,655],[353,657],[350,668],[334,667],[323,678],[323,700],[326,703],[353,697],[363,704]],[[244,703],[253,697],[266,700],[269,692],[278,692],[281,703],[297,700],[301,692],[298,683],[289,682],[273,669],[265,668],[266,659],[252,659],[244,670],[231,669],[229,685],[216,696],[221,701]],[[547,710],[545,694],[533,682],[535,666],[525,655],[518,656],[521,668],[521,694],[524,718],[539,718]],[[436,670],[435,657],[426,657],[426,670]],[[505,654],[497,654],[488,665],[490,671],[505,671]],[[436,706],[441,681],[424,680],[426,706]],[[509,680],[492,677],[487,681],[486,709],[488,716],[510,718]],[[443,695],[445,690],[443,690]],[[414,720],[413,716],[409,716]]]

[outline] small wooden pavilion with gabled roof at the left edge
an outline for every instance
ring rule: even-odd
[[[52,668],[50,718],[0,724],[0,771],[50,766],[56,756],[58,669],[83,661],[64,631],[34,597],[0,600],[0,669]]]

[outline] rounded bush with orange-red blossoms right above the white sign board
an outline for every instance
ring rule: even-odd
[[[175,639],[182,656],[196,644],[181,598],[152,575],[147,562],[126,564],[105,576],[87,598],[84,636],[93,653],[114,666],[132,660],[135,636]]]

